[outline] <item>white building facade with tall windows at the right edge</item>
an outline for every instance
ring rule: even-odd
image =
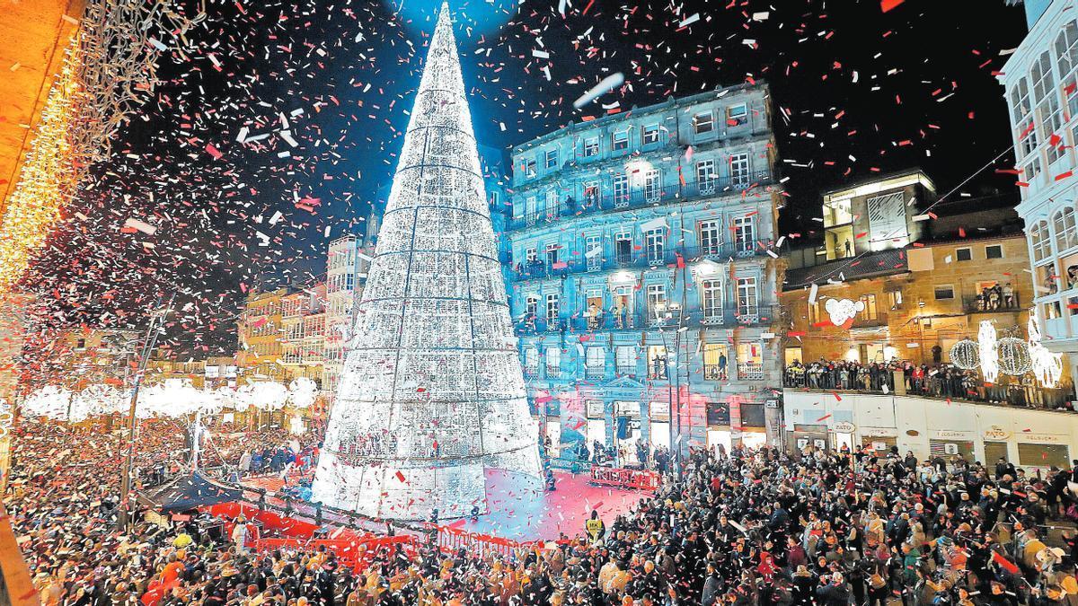
[[[1045,345],[1078,360],[1078,1],[1025,2],[1029,33],[998,75],[1005,87]]]

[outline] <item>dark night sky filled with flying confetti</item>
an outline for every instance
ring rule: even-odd
[[[938,0],[887,13],[879,0],[594,0],[567,3],[564,17],[556,1],[499,2],[452,3],[470,22],[457,36],[481,143],[508,149],[614,101],[628,110],[766,80],[788,177],[782,233],[811,235],[820,190],[921,165],[945,193],[1011,144],[994,72],[1025,20],[1003,0],[976,13]],[[208,1],[184,53],[168,39],[161,85],[26,276],[44,319],[139,326],[176,291],[177,356],[227,355],[248,289],[319,277],[327,232],[362,232],[397,163],[436,14],[431,2],[401,6]],[[625,86],[572,109],[618,71]],[[1012,163],[1005,155],[951,199],[1013,194],[1014,177],[996,173]],[[122,233],[129,217],[156,233]]]

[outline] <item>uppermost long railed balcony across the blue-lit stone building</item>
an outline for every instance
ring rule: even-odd
[[[583,199],[568,196],[558,203],[556,209],[545,208],[534,212],[525,212],[522,217],[513,217],[507,222],[507,230],[520,230],[553,223],[561,218],[591,215],[606,210],[624,210],[642,208],[675,199],[692,199],[713,195],[727,195],[743,192],[756,185],[770,184],[775,176],[770,170],[750,171],[736,178],[725,176],[703,181],[689,181],[685,185],[667,185],[663,188],[631,188],[626,192],[608,192],[603,195],[589,195]],[[523,204],[517,202],[523,208]]]

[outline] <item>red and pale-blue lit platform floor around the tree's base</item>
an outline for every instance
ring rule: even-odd
[[[445,520],[442,524],[452,531],[492,535],[511,541],[552,541],[563,533],[569,537],[583,533],[584,521],[593,509],[609,526],[616,517],[627,512],[651,494],[596,486],[591,483],[589,473],[555,471],[554,482],[556,490],[553,492],[522,488],[509,474],[488,470],[488,512],[474,522],[470,519]],[[282,482],[279,478],[261,478],[245,481],[244,484],[275,492]],[[281,502],[273,498],[270,500]],[[333,524],[334,520],[327,517],[326,523]]]

